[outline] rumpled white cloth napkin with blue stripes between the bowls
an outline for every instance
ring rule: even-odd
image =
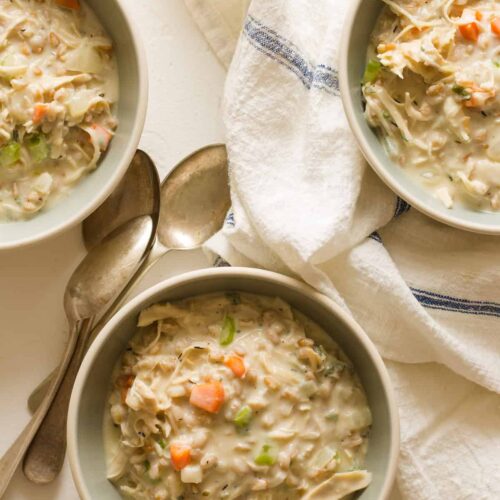
[[[185,1],[227,64],[247,2]],[[404,498],[500,499],[500,238],[428,219],[363,161],[336,70],[348,5],[252,2],[224,99],[233,207],[207,247],[361,324],[396,389]]]

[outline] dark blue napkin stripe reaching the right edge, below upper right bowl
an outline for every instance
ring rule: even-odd
[[[420,304],[429,309],[500,318],[500,304],[496,302],[461,299],[419,288],[411,288],[411,291]]]

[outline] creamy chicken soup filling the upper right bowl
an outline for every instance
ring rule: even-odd
[[[366,119],[446,207],[500,209],[500,3],[384,0]]]

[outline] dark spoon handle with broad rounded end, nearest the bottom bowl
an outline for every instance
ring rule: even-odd
[[[78,369],[86,352],[91,326],[91,321],[86,321],[82,326],[59,388],[24,457],[24,475],[33,483],[50,483],[63,466],[69,400]]]

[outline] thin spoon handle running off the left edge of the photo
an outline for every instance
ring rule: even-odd
[[[63,375],[71,359],[71,355],[75,349],[75,345],[78,339],[78,333],[80,331],[82,324],[77,323],[71,326],[71,331],[69,334],[68,344],[63,354],[63,361],[61,362],[55,377],[52,379],[50,386],[48,387],[47,393],[44,400],[38,407],[36,413],[31,417],[24,430],[19,434],[14,443],[5,452],[3,457],[0,459],[0,498],[5,493],[7,486],[14,475],[17,466],[21,462],[26,449],[28,448],[33,436],[36,434],[40,424],[43,421],[45,414],[47,413],[49,406],[54,399]]]

